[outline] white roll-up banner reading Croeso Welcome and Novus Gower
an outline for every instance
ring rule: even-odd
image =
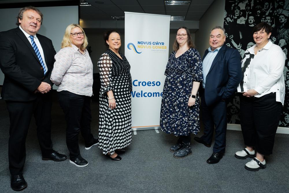
[[[160,126],[170,16],[125,12],[125,57],[131,66],[132,130]]]

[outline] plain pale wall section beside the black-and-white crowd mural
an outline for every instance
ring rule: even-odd
[[[195,35],[195,44],[201,57],[203,57],[205,50],[210,47],[209,35],[212,28],[216,25],[221,27],[224,25],[224,10],[225,0],[216,0],[200,19],[199,30],[197,30]]]

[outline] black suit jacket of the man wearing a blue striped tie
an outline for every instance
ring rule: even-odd
[[[37,38],[48,68],[45,76],[31,43],[19,27],[0,32],[0,68],[5,75],[1,92],[3,100],[31,101],[36,99],[34,91],[41,82],[52,87],[50,75],[56,52],[49,38],[40,34]]]

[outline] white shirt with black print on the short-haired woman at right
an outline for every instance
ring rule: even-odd
[[[276,101],[284,104],[285,82],[283,69],[285,54],[281,47],[269,41],[255,55],[254,48],[256,46],[255,44],[247,49],[244,54],[242,59],[243,79],[237,90],[238,92],[246,92],[249,89],[254,89],[259,93],[255,97],[276,92]]]

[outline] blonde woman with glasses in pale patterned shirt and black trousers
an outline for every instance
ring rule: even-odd
[[[78,24],[68,25],[61,49],[55,55],[50,78],[56,86],[59,86],[57,91],[66,119],[66,145],[70,152],[70,163],[77,167],[88,165],[79,152],[79,131],[84,138],[85,149],[98,144],[98,139],[90,132],[93,76],[87,45],[87,37],[82,27]]]

